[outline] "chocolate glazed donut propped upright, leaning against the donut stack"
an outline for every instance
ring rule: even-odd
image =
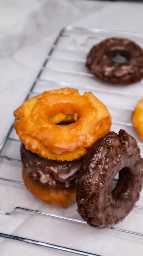
[[[112,227],[133,209],[143,183],[143,159],[125,130],[109,132],[89,150],[77,177],[81,217],[96,228]],[[113,191],[111,182],[119,173]]]

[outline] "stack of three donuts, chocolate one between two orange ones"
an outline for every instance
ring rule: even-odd
[[[14,115],[24,184],[38,199],[67,208],[83,157],[110,131],[106,106],[91,92],[62,88],[28,99]]]

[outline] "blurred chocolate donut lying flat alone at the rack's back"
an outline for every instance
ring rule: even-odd
[[[86,66],[108,83],[136,83],[143,78],[143,49],[128,39],[108,38],[92,47]]]

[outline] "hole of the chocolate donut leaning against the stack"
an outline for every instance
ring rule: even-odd
[[[134,182],[130,168],[124,167],[121,169],[118,176],[115,176],[114,181],[116,182],[116,186],[113,189],[111,187],[112,198],[118,200],[128,198],[131,193],[130,188],[133,186]]]

